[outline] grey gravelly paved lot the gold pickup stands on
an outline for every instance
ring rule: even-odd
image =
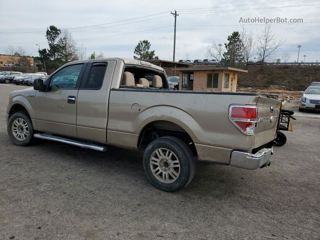
[[[0,239],[320,239],[320,114],[299,113],[298,100],[270,167],[198,163],[187,187],[167,193],[147,181],[140,151],[14,145],[5,111],[24,88],[0,84]]]

